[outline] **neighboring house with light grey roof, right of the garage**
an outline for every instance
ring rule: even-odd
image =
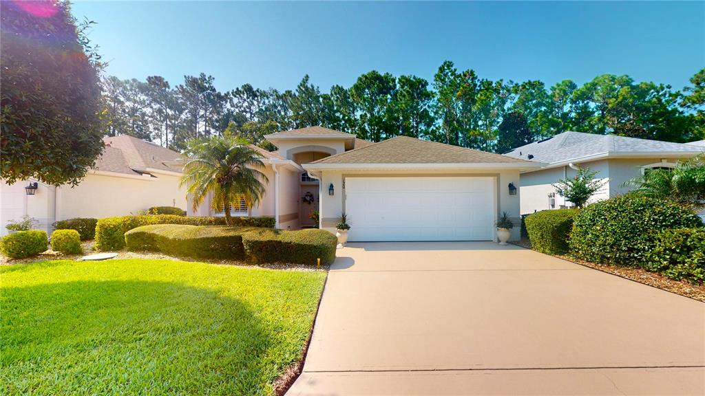
[[[521,213],[573,206],[556,194],[552,185],[575,176],[575,167],[597,171],[604,187],[591,202],[624,194],[632,187],[625,182],[653,168],[673,168],[675,163],[705,151],[705,141],[687,144],[660,142],[615,135],[563,132],[517,147],[507,156],[544,163],[539,169],[521,173]]]

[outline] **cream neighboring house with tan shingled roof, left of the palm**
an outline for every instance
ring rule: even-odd
[[[67,218],[124,216],[151,206],[186,209],[185,189],[179,187],[181,154],[127,135],[103,140],[103,154],[75,187],[37,182],[35,194],[27,195],[25,186],[35,180],[0,182],[1,235],[8,221],[23,215],[50,232],[54,221]]]

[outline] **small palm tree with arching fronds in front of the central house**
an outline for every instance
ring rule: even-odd
[[[240,206],[244,200],[251,209],[262,200],[264,183],[269,180],[260,171],[264,168],[262,156],[247,142],[230,135],[192,140],[185,154],[189,158],[180,185],[188,185],[194,211],[212,192],[213,209],[225,211],[226,223],[230,224],[233,205]]]

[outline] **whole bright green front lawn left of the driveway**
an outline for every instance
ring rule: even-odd
[[[1,394],[269,395],[326,275],[124,259],[0,276]]]

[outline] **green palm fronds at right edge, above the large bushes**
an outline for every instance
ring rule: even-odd
[[[673,199],[694,211],[705,207],[705,155],[680,161],[673,169],[646,169],[644,175],[624,183],[632,194]]]

